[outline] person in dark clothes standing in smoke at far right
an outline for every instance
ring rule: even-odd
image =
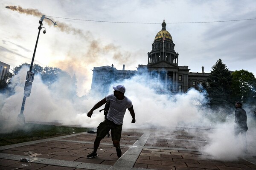
[[[236,102],[236,111],[235,111],[235,125],[234,125],[234,135],[236,142],[238,142],[238,135],[241,133],[241,137],[243,140],[244,151],[247,151],[247,139],[246,132],[248,130],[247,127],[247,115],[246,111],[242,108],[241,102]]]

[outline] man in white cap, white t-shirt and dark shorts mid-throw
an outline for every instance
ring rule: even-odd
[[[114,94],[106,96],[104,99],[96,103],[93,108],[87,113],[88,117],[91,117],[93,111],[101,107],[107,102],[110,102],[107,118],[99,124],[97,127],[97,135],[93,144],[93,152],[87,155],[87,158],[95,158],[100,141],[107,135],[111,130],[111,138],[113,146],[116,147],[117,157],[122,156],[122,150],[120,148],[120,139],[122,133],[122,124],[125,116],[125,111],[128,108],[132,117],[132,123],[135,123],[135,113],[133,105],[130,99],[125,94],[125,87],[123,85],[113,86]]]

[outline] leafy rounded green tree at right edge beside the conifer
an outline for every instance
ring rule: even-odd
[[[246,70],[232,73],[232,98],[234,101],[253,104],[256,102],[256,78]]]

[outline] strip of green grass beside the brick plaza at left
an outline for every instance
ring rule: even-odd
[[[3,126],[3,124],[0,125],[0,128],[2,129],[0,132],[0,146],[70,135],[90,130],[86,127],[68,127],[25,123],[22,126],[17,125],[12,127],[11,132],[9,130],[8,133],[5,133],[3,131],[5,127]]]

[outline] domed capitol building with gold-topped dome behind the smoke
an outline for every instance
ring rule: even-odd
[[[163,20],[162,29],[157,33],[152,43],[152,49],[148,52],[148,64],[139,65],[137,71],[116,70],[112,66],[94,67],[91,89],[106,90],[113,81],[128,79],[135,74],[147,71],[147,81],[151,88],[159,92],[186,92],[189,88],[200,90],[201,85],[208,85],[209,73],[189,72],[188,66],[178,65],[179,54],[175,51],[175,44],[166,23]],[[158,81],[157,86],[152,81]],[[101,87],[101,88],[99,88]]]

